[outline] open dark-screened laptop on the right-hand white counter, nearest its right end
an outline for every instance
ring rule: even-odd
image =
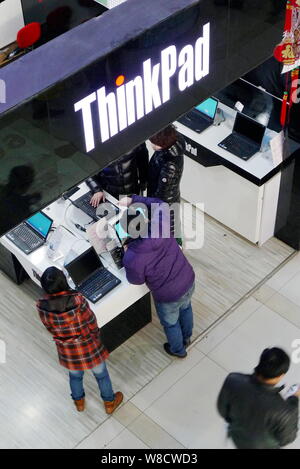
[[[263,124],[238,112],[232,133],[218,143],[218,146],[247,161],[260,151],[265,130]]]

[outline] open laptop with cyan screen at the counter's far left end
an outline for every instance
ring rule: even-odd
[[[37,212],[6,233],[6,237],[25,254],[30,254],[45,244],[52,223],[45,213]]]

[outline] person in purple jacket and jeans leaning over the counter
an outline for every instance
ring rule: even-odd
[[[164,236],[170,232],[170,228],[165,230],[166,224],[170,224],[168,204],[137,195],[123,198],[120,204],[129,207],[120,220],[123,232],[129,234],[124,243],[123,257],[127,280],[135,285],[147,284],[167,336],[164,349],[169,355],[184,358],[193,331],[191,298],[195,289],[195,273],[176,239],[170,234]],[[138,230],[137,221],[145,206],[148,217],[152,209],[151,218],[146,219],[144,228]],[[132,226],[135,230],[131,229]]]

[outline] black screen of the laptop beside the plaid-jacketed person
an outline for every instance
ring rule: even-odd
[[[88,249],[65,266],[75,285],[81,285],[82,282],[101,267],[103,267],[103,264],[94,248]]]

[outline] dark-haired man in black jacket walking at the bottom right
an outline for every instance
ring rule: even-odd
[[[298,391],[283,399],[275,387],[290,366],[279,348],[265,349],[253,375],[230,373],[218,397],[218,410],[239,449],[277,449],[297,437]]]

